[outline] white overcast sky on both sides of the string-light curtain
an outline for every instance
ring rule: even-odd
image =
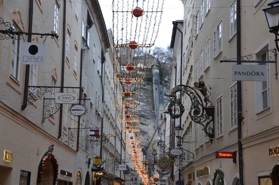
[[[112,27],[112,0],[99,1],[107,29]],[[163,15],[155,46],[167,48],[171,42],[172,21],[183,19],[181,0],[164,0]]]

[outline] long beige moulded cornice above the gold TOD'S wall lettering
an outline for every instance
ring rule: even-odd
[[[43,139],[49,141],[50,143],[54,144],[55,146],[59,147],[60,149],[63,149],[64,151],[76,155],[76,151],[71,149],[69,146],[66,144],[60,142],[56,138],[54,138],[52,135],[47,133],[46,131],[42,130],[35,124],[33,124],[30,120],[26,119],[24,116],[21,114],[17,113],[7,105],[3,104],[3,102],[0,102],[0,113],[6,116],[7,118],[13,120],[17,124],[21,125],[22,127],[28,129],[29,131],[39,135]]]

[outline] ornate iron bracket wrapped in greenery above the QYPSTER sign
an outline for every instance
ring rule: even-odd
[[[13,28],[14,27],[14,28]],[[11,25],[11,23],[9,22],[4,22],[3,18],[0,17],[0,40],[4,40],[4,39],[22,39],[19,38],[19,35],[41,35],[41,37],[43,36],[51,36],[51,39],[58,38],[58,35],[55,32],[51,32],[51,33],[26,33],[26,32],[22,32],[22,31],[17,31],[17,25],[14,23]],[[16,36],[16,37],[14,37]]]

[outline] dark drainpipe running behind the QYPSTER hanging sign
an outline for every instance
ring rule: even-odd
[[[28,33],[32,32],[33,25],[33,0],[29,0],[29,19],[28,19]],[[28,35],[27,42],[32,41],[32,35]],[[23,104],[21,110],[23,111],[27,106],[27,95],[28,95],[28,84],[29,84],[29,71],[30,65],[25,66],[25,80],[24,80],[24,94],[23,94]]]

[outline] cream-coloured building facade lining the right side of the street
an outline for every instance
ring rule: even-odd
[[[262,11],[269,1],[241,1],[240,47],[237,47],[236,1],[182,0],[182,3],[185,10],[184,21],[176,21],[180,30],[183,27],[182,84],[193,87],[194,82],[203,80],[205,85],[210,85],[212,89],[208,89],[209,98],[215,111],[214,125],[211,126],[214,126],[215,131],[211,143],[209,138],[205,137],[202,126],[189,117],[187,110],[191,102],[183,94],[185,113],[181,121],[184,129],[182,140],[189,141],[192,137],[191,152],[194,158],[193,161],[183,162],[181,180],[184,184],[213,185],[214,179],[215,184],[220,184],[223,173],[225,184],[236,185],[240,178],[237,85],[236,81],[232,80],[232,65],[236,63],[220,61],[230,58],[237,60],[233,59],[237,57],[237,48],[241,56],[251,55],[249,60],[267,61],[269,56],[269,60],[274,59],[272,52],[263,52],[276,47],[274,34],[269,33]],[[180,36],[179,30],[174,26],[171,43],[174,49],[172,78],[175,80],[176,77],[176,85],[180,84]],[[224,57],[226,58],[223,59]],[[242,60],[247,61],[247,58]],[[252,63],[257,64],[259,63]],[[244,184],[271,183],[271,173],[273,178],[278,179],[278,152],[273,152],[278,147],[278,90],[277,78],[274,75],[277,66],[274,63],[266,65],[267,82],[241,82]],[[174,84],[171,83],[170,89]],[[202,95],[201,97],[203,98]],[[176,119],[176,124],[179,124],[179,119]],[[182,147],[185,149],[186,146],[183,144]],[[236,152],[236,163],[232,159],[216,158],[216,152]],[[174,174],[173,183],[178,180],[178,168],[174,169]]]

